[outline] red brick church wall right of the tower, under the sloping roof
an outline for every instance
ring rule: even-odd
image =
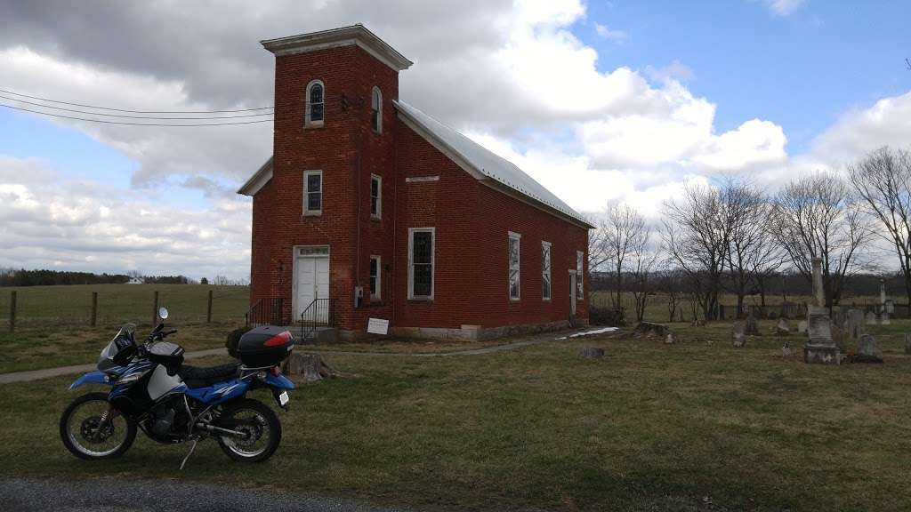
[[[568,271],[576,269],[576,251],[588,253],[588,230],[481,184],[412,129],[400,126],[397,133],[396,297],[402,305],[395,325],[457,329],[567,320]],[[405,182],[436,175],[438,181]],[[433,302],[406,299],[408,228],[421,227],[436,231]],[[509,231],[522,235],[517,302],[508,291]],[[552,244],[550,301],[541,297],[541,241]],[[583,290],[587,297],[588,282]],[[588,316],[588,300],[578,301],[577,317]]]

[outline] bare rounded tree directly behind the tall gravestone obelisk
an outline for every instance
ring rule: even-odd
[[[847,278],[865,268],[858,249],[870,233],[852,190],[834,174],[793,179],[781,189],[770,229],[807,281],[813,259],[822,259],[826,307],[838,303]]]

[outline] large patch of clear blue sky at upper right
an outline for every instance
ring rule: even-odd
[[[789,15],[762,2],[592,2],[573,27],[599,49],[599,67],[690,67],[687,86],[718,105],[716,128],[747,118],[781,125],[789,149],[846,110],[911,87],[911,5],[809,1]],[[627,34],[598,36],[594,23]]]

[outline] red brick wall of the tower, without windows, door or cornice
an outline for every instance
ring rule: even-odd
[[[312,79],[325,87],[321,128],[303,123]],[[374,86],[383,92],[382,134],[370,127]],[[392,215],[371,220],[369,193],[372,172],[384,176],[384,192],[393,180],[392,102],[397,97],[398,74],[358,46],[276,57],[273,176],[253,200],[251,303],[285,297],[291,314],[293,247],[329,245],[330,296],[339,299],[336,319],[352,325],[364,316],[354,312],[354,286],[366,288],[369,254],[392,254],[391,244],[382,245],[392,239]],[[317,169],[322,170],[322,216],[303,216],[303,172]],[[389,208],[391,203],[384,204],[384,213]],[[355,258],[358,248],[361,257]]]

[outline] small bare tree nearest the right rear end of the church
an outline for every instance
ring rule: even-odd
[[[609,266],[613,274],[616,294],[612,301],[614,307],[619,308],[622,306],[624,269],[633,254],[644,252],[651,231],[638,211],[620,204],[611,205],[605,211],[599,231],[601,263]]]

